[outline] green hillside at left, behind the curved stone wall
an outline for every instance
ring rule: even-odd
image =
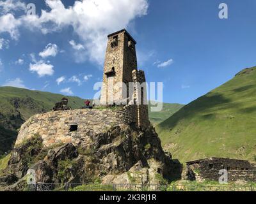
[[[36,113],[49,112],[63,95],[0,87],[0,155],[11,149],[17,129]],[[68,106],[81,108],[83,99],[68,97]]]

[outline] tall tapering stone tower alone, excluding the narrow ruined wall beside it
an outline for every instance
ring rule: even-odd
[[[108,35],[100,103],[120,105],[129,102],[129,82],[132,71],[137,70],[136,41],[125,30]],[[124,84],[126,86],[124,86]]]

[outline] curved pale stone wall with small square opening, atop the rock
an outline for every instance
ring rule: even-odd
[[[15,147],[35,135],[43,138],[45,147],[70,142],[88,146],[93,135],[136,123],[133,110],[127,106],[115,111],[67,110],[34,115],[21,126]]]

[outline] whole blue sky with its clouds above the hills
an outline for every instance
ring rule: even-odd
[[[0,0],[0,85],[92,98],[106,35],[124,27],[138,41],[147,81],[164,83],[164,102],[189,103],[256,65],[255,0],[46,3]],[[220,3],[228,19],[218,17]]]

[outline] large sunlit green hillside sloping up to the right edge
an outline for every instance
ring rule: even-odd
[[[256,67],[184,106],[157,126],[173,157],[256,157]]]

